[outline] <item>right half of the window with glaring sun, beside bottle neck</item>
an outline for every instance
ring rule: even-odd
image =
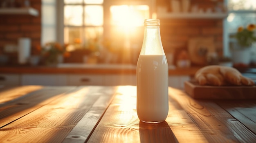
[[[113,48],[130,48],[143,41],[144,19],[149,18],[148,5],[112,5],[110,7],[109,37],[122,42]],[[141,43],[139,43],[141,42]]]

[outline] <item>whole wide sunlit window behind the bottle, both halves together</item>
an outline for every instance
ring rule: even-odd
[[[142,41],[138,37],[143,39],[144,19],[150,18],[151,0],[57,2],[57,41],[69,43],[72,49],[88,48],[88,44],[95,43],[95,40],[103,43],[105,38],[111,43],[111,48],[140,45],[137,41]]]

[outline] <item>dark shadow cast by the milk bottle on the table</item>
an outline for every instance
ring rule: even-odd
[[[139,121],[141,143],[178,143],[166,121],[162,123],[144,123]]]

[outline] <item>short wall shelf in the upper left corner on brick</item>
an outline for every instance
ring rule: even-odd
[[[1,8],[0,14],[23,14],[23,15],[27,14],[27,15],[38,16],[38,11],[31,7],[29,7],[29,8]]]

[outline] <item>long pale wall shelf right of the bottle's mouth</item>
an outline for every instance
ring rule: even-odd
[[[158,13],[157,18],[218,19],[226,18],[227,15],[227,13]]]

